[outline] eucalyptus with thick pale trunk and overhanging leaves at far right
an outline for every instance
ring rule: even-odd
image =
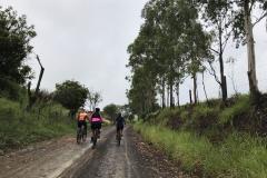
[[[198,0],[199,2],[199,0]],[[255,39],[253,29],[255,24],[260,22],[267,17],[267,1],[266,0],[206,0],[201,3],[207,6],[208,18],[212,20],[214,23],[218,23],[217,18],[225,18],[226,26],[225,29],[230,28],[229,31],[234,32],[234,39],[239,44],[247,46],[247,58],[248,58],[248,80],[249,80],[249,91],[253,98],[259,96],[257,76],[256,76],[256,56],[255,56]],[[227,13],[230,12],[230,16]],[[253,22],[251,17],[255,17],[255,12],[259,13],[256,17],[255,22]],[[259,12],[261,11],[261,12]],[[228,39],[228,36],[226,36]],[[238,46],[237,46],[238,47]]]

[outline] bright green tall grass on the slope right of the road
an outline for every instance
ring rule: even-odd
[[[267,178],[267,140],[233,132],[219,145],[192,131],[174,131],[138,122],[134,128],[184,170],[202,177]]]

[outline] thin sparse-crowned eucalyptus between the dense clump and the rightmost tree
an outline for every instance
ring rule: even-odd
[[[225,76],[225,68],[224,68],[224,52],[225,48],[227,46],[228,40],[230,39],[233,34],[231,26],[235,21],[235,16],[233,13],[234,9],[230,6],[230,0],[208,0],[202,1],[198,0],[202,7],[200,10],[201,17],[205,21],[205,26],[212,32],[214,34],[214,41],[212,46],[214,48],[210,48],[210,50],[215,53],[215,56],[218,56],[219,59],[219,68],[220,68],[220,80],[218,80],[218,77],[216,76],[216,72],[211,72],[212,76],[215,76],[216,81],[219,83],[221,88],[221,96],[222,100],[226,101],[227,99],[227,80]],[[209,60],[209,65],[211,66],[211,62],[214,60]],[[211,70],[215,71],[215,70]]]

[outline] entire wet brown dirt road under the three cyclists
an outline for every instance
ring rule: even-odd
[[[144,142],[130,127],[117,146],[106,128],[96,147],[77,145],[73,136],[44,141],[0,156],[0,178],[187,178],[179,166]]]

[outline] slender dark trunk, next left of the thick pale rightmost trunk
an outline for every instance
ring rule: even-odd
[[[220,88],[221,88],[221,96],[222,101],[225,102],[227,99],[227,87],[225,80],[225,71],[224,71],[224,51],[222,51],[222,30],[221,30],[221,22],[219,24],[219,66],[220,66]]]

